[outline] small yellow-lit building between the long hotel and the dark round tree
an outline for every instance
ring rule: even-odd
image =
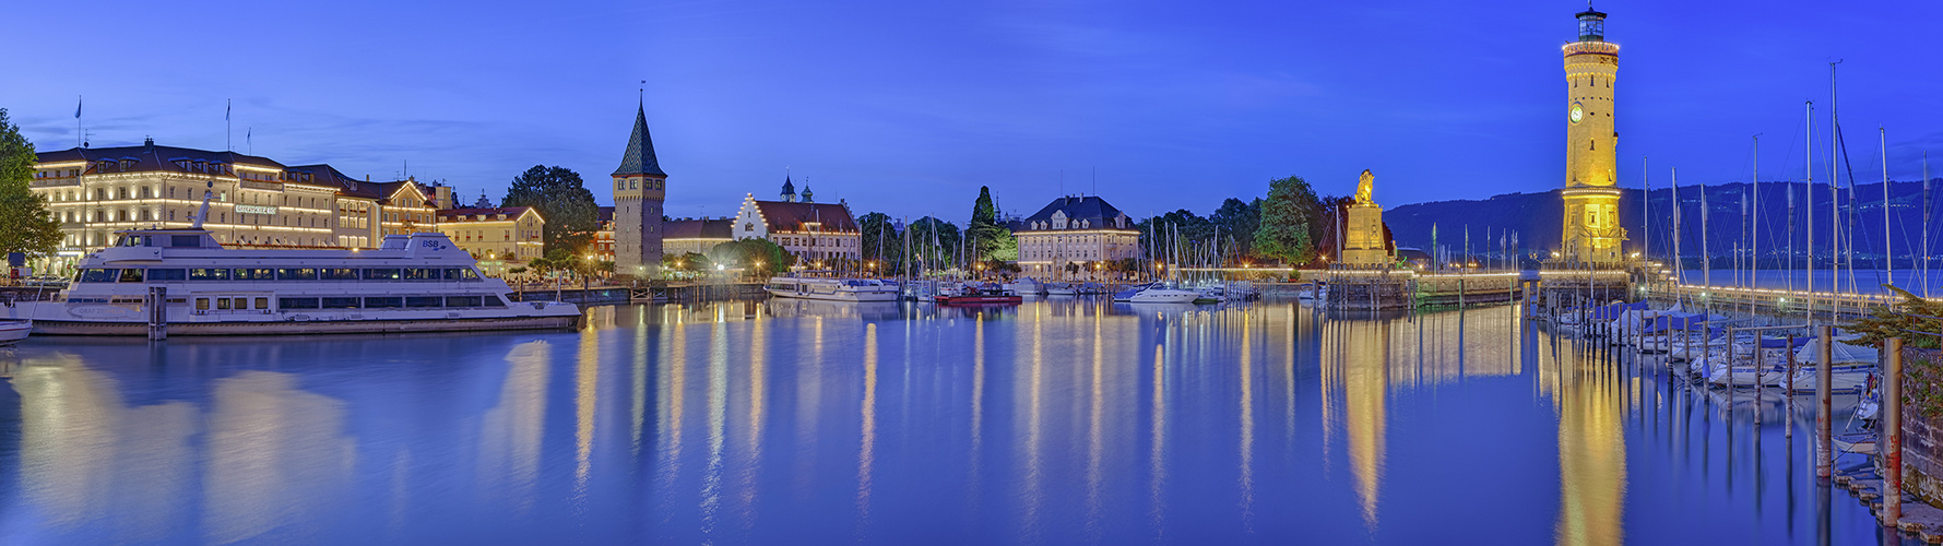
[[[472,253],[486,274],[540,258],[546,245],[546,218],[530,206],[447,208],[437,212],[437,229]]]

